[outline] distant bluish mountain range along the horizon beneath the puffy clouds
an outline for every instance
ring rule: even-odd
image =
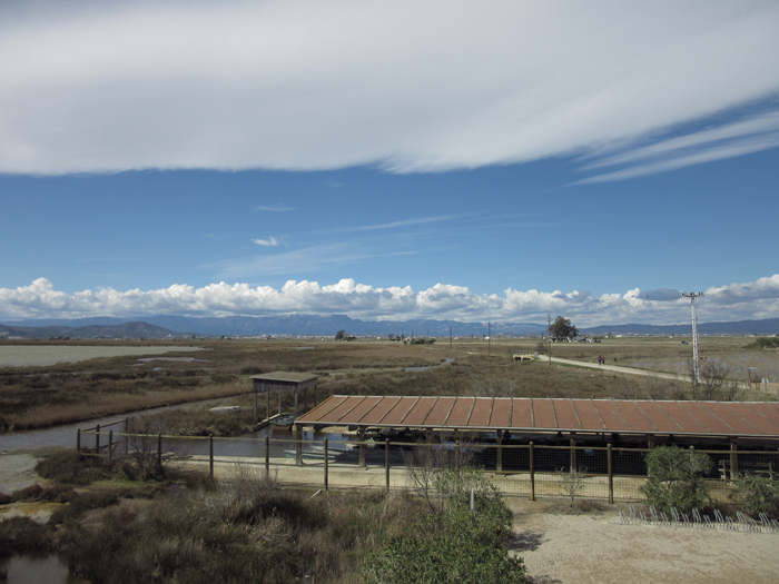
[[[187,317],[151,316],[144,321],[128,321],[114,317],[79,318],[73,320],[39,319],[8,321],[0,325],[2,338],[180,338],[199,336],[333,336],[338,330],[364,336],[493,336],[543,335],[543,323],[460,323],[457,320],[358,320],[345,315],[316,316],[229,316]],[[188,333],[184,333],[187,330]],[[690,335],[691,325],[603,325],[582,328],[588,335]],[[739,320],[734,323],[701,323],[701,335],[775,335],[779,334],[779,318]]]

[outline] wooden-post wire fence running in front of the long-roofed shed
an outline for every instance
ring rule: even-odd
[[[296,437],[221,438],[214,436],[168,436],[127,434],[102,427],[79,429],[77,448],[112,461],[119,455],[144,453],[157,464],[206,466],[211,476],[228,476],[236,464],[276,474],[282,483],[315,488],[414,488],[408,466],[417,464],[413,453],[444,451],[447,464],[471,464],[483,468],[505,495],[531,501],[564,497],[564,478],[582,476],[579,498],[608,503],[641,502],[640,487],[647,481],[648,448],[548,446],[453,442],[443,444],[410,442],[343,442]],[[85,438],[95,437],[95,447]],[[103,441],[101,443],[101,436]],[[107,437],[107,441],[105,439]],[[779,452],[698,451],[713,462],[707,476],[712,496],[726,501],[738,474],[779,472]]]

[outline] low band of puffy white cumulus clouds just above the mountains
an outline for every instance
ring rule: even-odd
[[[775,318],[779,314],[779,274],[747,284],[704,290],[698,303],[701,321]],[[203,288],[174,285],[158,290],[114,288],[69,295],[46,278],[16,289],[0,288],[0,318],[82,318],[96,316],[270,316],[283,314],[346,314],[364,320],[416,318],[461,321],[539,321],[564,315],[578,326],[628,323],[678,324],[690,318],[690,303],[679,290],[637,289],[593,296],[504,290],[504,296],[479,295],[467,287],[436,284],[414,291],[411,286],[374,288],[342,279],[321,286],[289,280],[282,289],[247,284],[211,284]]]

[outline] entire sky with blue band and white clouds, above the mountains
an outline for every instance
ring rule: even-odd
[[[779,316],[779,4],[9,2],[0,321]]]

